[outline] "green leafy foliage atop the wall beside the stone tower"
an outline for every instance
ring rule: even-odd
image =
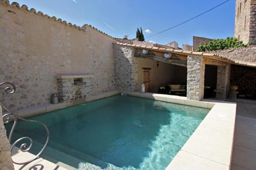
[[[238,41],[237,38],[227,37],[226,39],[213,39],[204,45],[200,44],[197,52],[225,50],[228,48],[246,47],[248,45],[250,45],[250,42],[244,44],[243,41]]]

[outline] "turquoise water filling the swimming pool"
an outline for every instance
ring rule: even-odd
[[[42,157],[90,169],[165,169],[208,109],[116,95],[31,117],[46,124]],[[10,125],[7,126],[7,129]],[[45,141],[42,127],[18,122],[14,138]],[[100,167],[100,168],[99,168]]]

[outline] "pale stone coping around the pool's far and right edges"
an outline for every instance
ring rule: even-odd
[[[118,93],[120,93],[120,91],[111,91],[72,103],[61,103],[54,106],[37,106],[34,107],[35,110],[33,110],[33,108],[19,110],[18,114],[23,117],[34,116],[106,98]],[[230,169],[234,124],[236,122],[236,103],[215,100],[203,100],[198,102],[187,100],[186,97],[183,96],[155,93],[124,93],[139,98],[211,109],[166,169]]]

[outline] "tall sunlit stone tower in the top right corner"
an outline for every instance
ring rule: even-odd
[[[256,44],[256,0],[236,0],[234,37]]]

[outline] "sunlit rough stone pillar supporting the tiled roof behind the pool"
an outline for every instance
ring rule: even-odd
[[[204,98],[204,71],[203,57],[187,57],[187,99],[200,101]]]

